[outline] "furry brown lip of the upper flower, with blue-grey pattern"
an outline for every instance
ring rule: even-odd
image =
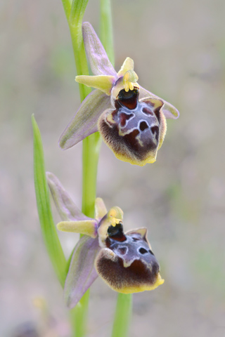
[[[106,110],[98,120],[103,140],[117,158],[141,166],[156,160],[167,129],[163,105],[158,98],[139,100],[139,88],[120,91],[115,110]]]

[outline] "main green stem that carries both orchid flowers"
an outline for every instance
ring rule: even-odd
[[[75,55],[77,75],[88,75],[88,65],[82,36],[82,20],[88,0],[73,0],[68,14],[63,1],[63,7],[68,19],[72,48]],[[79,84],[81,101],[91,92],[91,89]],[[98,133],[83,140],[83,177],[82,177],[82,212],[86,216],[94,218],[94,203],[96,199],[96,176],[98,166],[98,154],[100,150],[100,136]],[[89,291],[86,291],[77,306],[71,310],[72,337],[83,337],[86,334],[86,313],[89,303]]]

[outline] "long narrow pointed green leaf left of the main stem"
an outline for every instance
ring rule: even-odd
[[[49,187],[46,181],[46,171],[44,168],[44,152],[41,142],[41,133],[37,126],[37,122],[34,119],[34,115],[32,115],[32,127],[34,133],[34,187],[41,232],[53,268],[60,284],[64,286],[67,263],[51,213]]]

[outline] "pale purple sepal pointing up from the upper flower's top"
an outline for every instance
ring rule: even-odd
[[[93,74],[113,75],[117,77],[117,72],[108,59],[108,55],[106,54],[101,41],[98,39],[94,28],[89,22],[84,22],[82,27],[86,55],[89,59]]]

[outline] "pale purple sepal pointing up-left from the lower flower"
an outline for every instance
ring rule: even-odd
[[[60,180],[53,173],[46,172],[46,177],[53,201],[62,220],[90,220],[90,218],[84,216],[79,211],[68,192],[65,191],[63,185],[60,183]]]

